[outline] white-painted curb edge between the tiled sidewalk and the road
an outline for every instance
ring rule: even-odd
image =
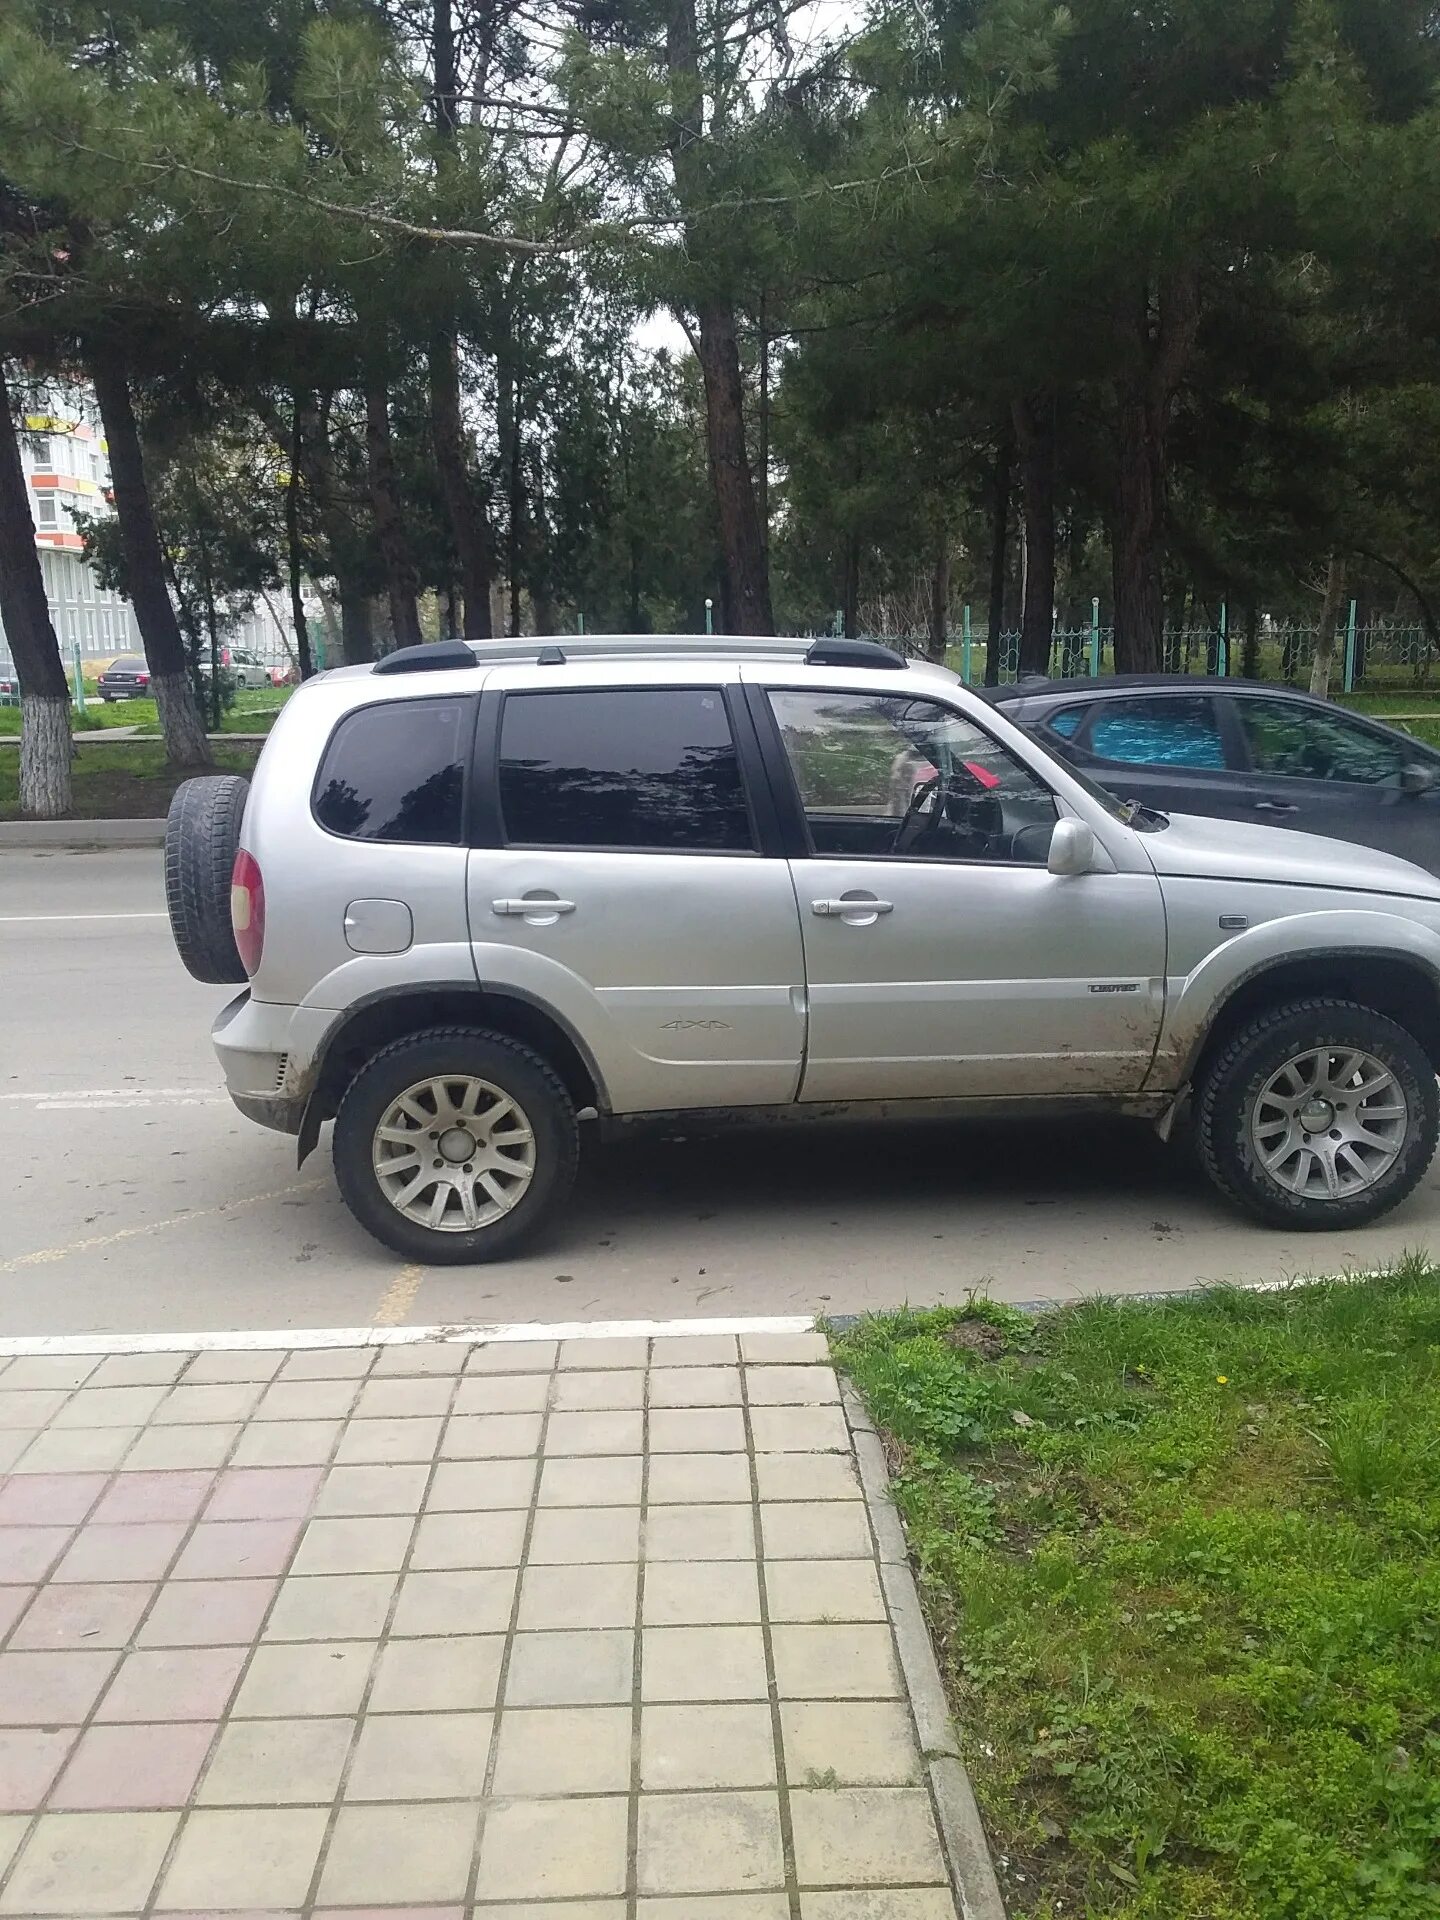
[[[255,1198],[269,1200],[271,1194]],[[0,1273],[6,1269],[0,1267]],[[501,1340],[662,1340],[691,1332],[812,1332],[812,1313],[733,1315],[676,1321],[472,1321],[451,1327],[280,1327],[269,1332],[58,1332],[0,1340],[0,1357],[36,1354],[269,1354],[319,1346],[420,1346],[463,1340],[492,1346]]]

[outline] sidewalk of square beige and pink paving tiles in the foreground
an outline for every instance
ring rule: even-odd
[[[954,1920],[818,1334],[0,1365],[0,1916]]]

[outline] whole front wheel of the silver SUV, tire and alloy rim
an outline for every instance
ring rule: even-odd
[[[1425,1048],[1348,1000],[1260,1014],[1196,1089],[1206,1173],[1275,1227],[1313,1233],[1388,1213],[1419,1185],[1438,1131]]]

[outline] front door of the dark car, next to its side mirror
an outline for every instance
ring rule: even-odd
[[[1440,755],[1392,728],[1288,693],[1233,693],[1242,772],[1235,816],[1382,847],[1440,866],[1440,785],[1409,793],[1404,772]]]

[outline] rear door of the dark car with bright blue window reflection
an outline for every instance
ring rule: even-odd
[[[1050,716],[1064,733],[1073,708]],[[1069,756],[1121,801],[1160,812],[1219,814],[1231,804],[1221,712],[1208,689],[1094,699],[1069,730]]]

